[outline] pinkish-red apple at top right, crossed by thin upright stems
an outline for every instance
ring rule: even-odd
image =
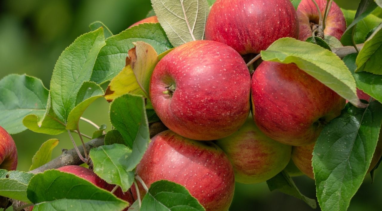
[[[324,18],[326,0],[316,0],[320,8],[322,18]],[[302,0],[297,7],[297,16],[299,21],[299,40],[305,41],[308,37],[312,36],[312,29],[310,22],[319,23],[319,12],[316,5],[312,0]],[[345,16],[340,7],[333,2],[330,7],[329,14],[326,19],[326,26],[324,29],[325,35],[331,35],[338,40],[341,39],[343,32],[346,30]]]

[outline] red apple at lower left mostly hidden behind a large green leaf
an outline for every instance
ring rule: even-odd
[[[63,166],[57,169],[58,171],[62,172],[67,172],[74,174],[78,177],[81,177],[92,184],[103,188],[108,191],[112,191],[115,185],[108,184],[105,180],[101,179],[97,174],[95,174],[92,170],[87,169],[82,166]],[[125,200],[132,205],[134,203],[133,195],[131,195],[130,191],[127,191],[125,193],[122,192],[121,188],[118,188],[115,192],[114,195],[117,196],[118,198]]]

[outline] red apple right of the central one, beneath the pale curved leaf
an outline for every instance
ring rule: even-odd
[[[293,146],[314,142],[345,99],[296,64],[264,61],[252,77],[254,121],[265,135]]]

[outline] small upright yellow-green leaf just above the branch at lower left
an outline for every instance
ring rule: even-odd
[[[44,142],[32,158],[32,166],[29,171],[37,169],[52,159],[52,150],[58,145],[58,139],[49,139]]]

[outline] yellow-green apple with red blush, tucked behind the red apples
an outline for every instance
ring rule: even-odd
[[[232,135],[215,142],[227,154],[235,171],[236,182],[264,182],[282,171],[292,147],[264,135],[252,116]]]

